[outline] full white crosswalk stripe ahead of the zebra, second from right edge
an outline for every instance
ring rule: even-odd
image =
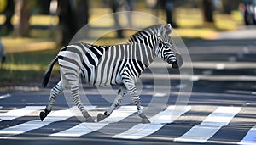
[[[207,142],[222,126],[228,125],[230,120],[239,113],[241,107],[218,107],[208,115],[200,125],[195,125],[183,136],[175,138],[175,142]]]

